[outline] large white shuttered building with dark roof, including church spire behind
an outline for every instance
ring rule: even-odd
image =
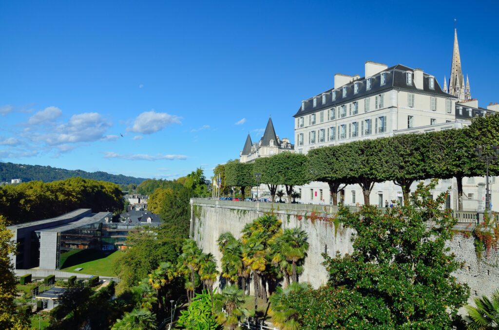
[[[295,151],[333,146],[361,139],[375,139],[396,134],[431,132],[470,125],[471,119],[499,110],[497,104],[480,108],[471,99],[469,83],[464,86],[461,60],[455,33],[449,93],[440,87],[435,76],[398,64],[366,62],[364,77],[334,75],[334,87],[302,101],[293,116]],[[463,89],[457,88],[459,84]],[[463,180],[464,209],[483,209],[484,178]],[[491,178],[493,208],[498,209],[499,186]],[[411,190],[415,188],[415,183]],[[435,193],[452,186],[447,207],[457,209],[457,182],[442,180]],[[296,187],[303,203],[331,203],[329,187],[323,182]],[[338,201],[362,204],[362,189],[348,185]],[[376,183],[371,191],[371,204],[384,206],[386,201],[402,201],[402,190],[391,181]],[[497,201],[497,202],[495,202]]]

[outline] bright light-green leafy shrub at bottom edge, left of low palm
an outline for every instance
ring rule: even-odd
[[[203,291],[196,294],[188,309],[181,312],[178,324],[183,329],[218,330],[220,329],[212,313],[210,295]]]

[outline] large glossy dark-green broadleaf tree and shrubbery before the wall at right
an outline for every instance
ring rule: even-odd
[[[451,275],[462,266],[445,247],[457,220],[441,210],[446,193],[431,198],[435,184],[420,183],[410,205],[386,214],[373,206],[340,208],[340,221],[357,233],[354,252],[323,254],[327,286],[290,301],[303,328],[451,327],[469,288]]]

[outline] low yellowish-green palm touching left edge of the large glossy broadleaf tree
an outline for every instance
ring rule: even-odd
[[[287,288],[283,289],[278,287],[275,293],[270,296],[270,316],[272,323],[279,327],[281,330],[298,330],[299,324],[296,321],[298,313],[296,310],[289,308],[282,304],[282,299],[286,297],[291,291],[299,289],[309,289],[308,283],[293,283]]]

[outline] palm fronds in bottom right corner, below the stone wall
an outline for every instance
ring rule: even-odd
[[[465,316],[465,321],[468,329],[499,329],[499,289],[492,294],[492,301],[483,296],[475,298],[475,305],[477,307],[466,306],[468,315]]]

